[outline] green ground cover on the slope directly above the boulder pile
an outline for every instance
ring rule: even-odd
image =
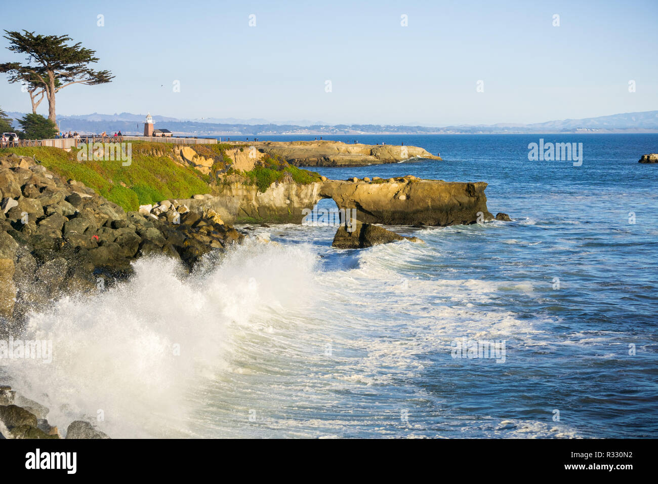
[[[36,157],[47,169],[64,180],[73,178],[93,188],[99,194],[125,210],[137,210],[139,205],[160,202],[166,198],[190,198],[209,193],[207,177],[192,167],[183,167],[165,155],[143,154],[158,148],[156,153],[172,151],[170,144],[132,143],[132,163],[122,166],[118,161],[78,161],[78,150],[66,152],[47,146],[37,148],[3,148],[0,154]]]

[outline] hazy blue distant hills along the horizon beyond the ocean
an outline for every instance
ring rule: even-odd
[[[25,113],[7,113],[18,119]],[[145,114],[92,113],[90,115],[60,116],[62,130],[76,130],[82,134],[113,133],[141,134]],[[622,113],[585,119],[535,122],[532,124],[502,123],[456,126],[405,126],[382,124],[324,124],[310,121],[272,123],[263,119],[195,119],[184,120],[154,115],[156,128],[167,128],[182,136],[266,136],[276,134],[506,134],[506,133],[572,133],[572,132],[658,132],[658,111]],[[306,124],[309,123],[309,124]],[[16,124],[17,126],[17,124]]]

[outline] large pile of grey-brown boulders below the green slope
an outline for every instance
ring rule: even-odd
[[[1,157],[0,182],[0,317],[20,319],[68,292],[104,288],[130,275],[142,255],[166,254],[191,269],[243,238],[216,214],[176,201],[126,213],[27,157]],[[5,329],[0,323],[0,333]]]

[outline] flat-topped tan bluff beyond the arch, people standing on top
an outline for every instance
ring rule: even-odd
[[[225,142],[253,146],[257,151],[278,156],[296,167],[361,167],[399,163],[408,159],[441,160],[417,146],[349,144],[340,141],[257,141]]]

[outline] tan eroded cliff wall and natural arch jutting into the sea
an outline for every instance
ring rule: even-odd
[[[357,220],[363,223],[445,226],[492,220],[486,186],[408,176],[377,182],[280,182],[258,192],[255,185],[235,181],[219,186],[217,196],[199,195],[182,203],[199,213],[213,209],[227,223],[302,223],[304,209],[332,198],[339,209],[356,209]]]

